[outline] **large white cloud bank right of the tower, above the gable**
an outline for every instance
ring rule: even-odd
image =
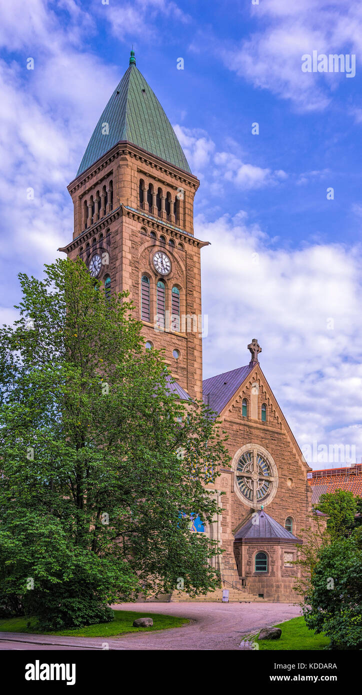
[[[255,336],[299,445],[356,444],[361,459],[361,248],[273,250],[245,213],[212,224],[199,216],[195,233],[211,241],[202,252],[204,377],[247,364]]]

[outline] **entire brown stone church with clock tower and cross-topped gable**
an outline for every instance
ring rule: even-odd
[[[80,256],[106,292],[129,291],[146,348],[165,350],[174,390],[204,398],[229,434],[231,468],[208,484],[224,511],[195,528],[224,550],[213,562],[229,600],[290,602],[299,574],[292,563],[311,525],[311,468],[261,370],[256,338],[240,355],[244,366],[202,380],[200,252],[208,241],[194,234],[198,187],[131,51],[69,183],[74,235],[61,251]]]

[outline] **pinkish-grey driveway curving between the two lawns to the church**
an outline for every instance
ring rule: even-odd
[[[113,607],[183,616],[192,623],[109,639],[0,632],[0,649],[240,650],[244,635],[300,615],[299,607],[290,603],[120,603]]]

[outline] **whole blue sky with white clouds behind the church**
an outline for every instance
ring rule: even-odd
[[[201,181],[195,234],[211,241],[202,251],[204,377],[247,363],[258,338],[299,445],[355,445],[360,461],[358,3],[3,3],[0,319],[15,316],[17,273],[40,275],[72,238],[66,186],[132,44]],[[355,54],[356,75],[303,73],[313,50]]]

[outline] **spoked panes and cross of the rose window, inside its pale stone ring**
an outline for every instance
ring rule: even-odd
[[[274,473],[268,459],[257,450],[245,451],[236,466],[236,481],[242,496],[251,504],[263,502],[274,489]]]

